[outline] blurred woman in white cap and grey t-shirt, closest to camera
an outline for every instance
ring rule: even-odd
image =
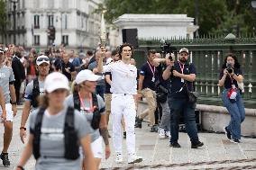
[[[46,76],[45,95],[40,108],[30,117],[29,141],[16,170],[33,156],[36,170],[81,169],[79,146],[83,148],[87,169],[96,169],[90,148],[90,127],[85,116],[64,102],[69,92],[69,80],[59,72]]]

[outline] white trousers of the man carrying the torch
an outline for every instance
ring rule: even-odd
[[[132,94],[112,94],[111,114],[113,118],[113,145],[116,153],[122,154],[122,115],[126,130],[126,147],[128,154],[135,153],[135,103]]]

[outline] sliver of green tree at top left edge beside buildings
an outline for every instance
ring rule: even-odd
[[[6,33],[7,15],[5,11],[5,1],[0,0],[0,35],[2,37],[2,42],[4,42],[4,37]]]

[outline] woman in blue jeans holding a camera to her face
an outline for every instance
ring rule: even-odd
[[[242,83],[242,69],[233,53],[226,55],[219,76],[219,85],[224,86],[222,101],[231,115],[231,121],[224,127],[227,139],[240,143],[241,123],[245,118],[244,104],[239,93],[238,83]]]

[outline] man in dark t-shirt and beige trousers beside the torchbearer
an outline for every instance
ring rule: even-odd
[[[148,109],[142,112],[142,114],[139,116],[139,121],[137,121],[136,123],[136,127],[142,128],[142,120],[147,115],[149,115],[151,131],[154,131],[155,111],[157,107],[155,82],[158,77],[158,72],[156,67],[153,66],[153,59],[155,58],[155,53],[156,50],[149,50],[148,60],[141,67],[138,94],[141,94],[143,97],[146,98],[148,103]]]

